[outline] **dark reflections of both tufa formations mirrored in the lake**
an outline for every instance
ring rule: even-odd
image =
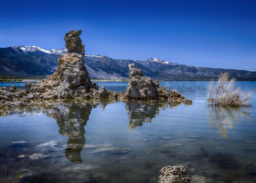
[[[13,111],[3,111],[1,115],[19,114],[41,115],[45,113],[47,116],[54,118],[58,124],[59,132],[67,138],[67,148],[65,155],[72,163],[82,163],[81,151],[86,145],[84,127],[89,120],[93,107],[101,107],[105,109],[108,104],[116,101],[70,101],[70,102],[42,102],[36,101],[31,103],[29,107],[17,109]],[[152,118],[156,118],[161,109],[168,106],[175,107],[179,104],[171,105],[168,102],[126,102],[125,109],[129,118],[129,131],[133,132],[136,127],[141,127],[144,122],[150,123]],[[20,111],[19,111],[20,110]]]

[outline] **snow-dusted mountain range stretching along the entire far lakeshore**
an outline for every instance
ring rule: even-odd
[[[52,74],[58,65],[58,58],[67,50],[46,50],[36,46],[15,46],[0,48],[0,75],[45,76]],[[246,70],[195,67],[171,63],[157,58],[146,61],[120,60],[107,56],[85,55],[85,66],[93,79],[128,79],[128,64],[135,63],[144,76],[163,80],[209,80],[221,72],[229,72],[238,80],[256,80],[256,72]]]

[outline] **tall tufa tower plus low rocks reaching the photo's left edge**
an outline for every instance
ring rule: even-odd
[[[15,85],[10,91],[0,88],[0,107],[26,106],[33,99],[100,99],[98,86],[92,84],[84,67],[81,32],[70,31],[65,35],[67,53],[59,58],[58,68],[51,76],[38,83],[26,83],[27,90],[16,89]]]

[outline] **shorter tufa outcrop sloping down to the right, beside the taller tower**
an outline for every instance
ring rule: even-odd
[[[143,72],[135,67],[135,64],[129,65],[129,83],[121,98],[127,100],[168,100],[170,103],[192,104],[192,100],[178,93],[177,90],[170,90],[165,86],[160,86],[158,81],[150,77],[143,77]]]

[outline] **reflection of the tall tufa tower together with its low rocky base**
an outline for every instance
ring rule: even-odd
[[[27,114],[45,113],[47,116],[56,119],[60,134],[67,138],[67,148],[65,155],[72,163],[82,163],[81,151],[86,145],[84,134],[84,126],[89,120],[93,107],[101,107],[102,110],[112,102],[67,102],[67,103],[51,103],[43,102],[42,104],[34,104],[26,108]]]

